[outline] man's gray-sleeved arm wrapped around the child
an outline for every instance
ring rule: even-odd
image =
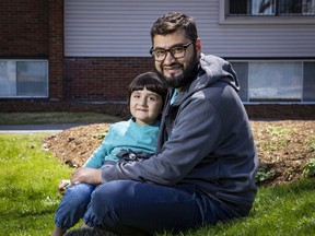
[[[143,162],[104,165],[102,181],[133,179],[175,185],[215,149],[221,125],[211,103],[196,98],[179,115],[160,154]]]

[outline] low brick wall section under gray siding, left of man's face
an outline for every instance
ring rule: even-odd
[[[63,98],[126,101],[131,80],[145,71],[153,71],[151,58],[65,58]]]

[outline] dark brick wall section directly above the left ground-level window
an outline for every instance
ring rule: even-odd
[[[1,0],[0,57],[48,57],[48,4],[44,0]]]

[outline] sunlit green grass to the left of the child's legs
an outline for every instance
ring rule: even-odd
[[[43,137],[0,135],[0,235],[49,235],[54,227],[57,186],[72,169],[42,151]]]

